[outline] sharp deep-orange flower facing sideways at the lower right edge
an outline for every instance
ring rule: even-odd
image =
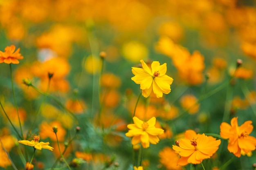
[[[234,153],[236,157],[242,153],[249,153],[256,149],[256,138],[249,136],[253,130],[252,121],[245,121],[241,126],[238,126],[238,117],[231,119],[231,124],[222,122],[220,124],[220,136],[224,139],[229,139],[227,149]]]

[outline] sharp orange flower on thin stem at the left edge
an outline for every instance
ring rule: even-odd
[[[23,59],[23,56],[19,53],[20,48],[15,51],[15,45],[7,46],[4,52],[0,51],[0,63],[6,64],[19,64],[19,60]],[[15,52],[14,52],[15,51]]]

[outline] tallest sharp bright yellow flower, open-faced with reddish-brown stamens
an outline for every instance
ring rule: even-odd
[[[140,60],[140,62],[142,68],[132,67],[132,73],[135,75],[132,80],[136,84],[140,84],[142,95],[148,97],[152,90],[157,98],[163,97],[163,93],[170,93],[173,78],[165,75],[167,71],[166,63],[160,65],[159,62],[154,61],[150,68],[143,60]]]

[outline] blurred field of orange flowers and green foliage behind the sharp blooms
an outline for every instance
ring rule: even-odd
[[[35,152],[36,170],[52,168],[60,156],[53,126],[61,150],[68,146],[67,162],[81,158],[72,169],[138,166],[138,151],[125,133],[141,93],[131,80],[140,60],[167,63],[166,75],[174,79],[170,94],[141,97],[136,108],[139,119],[155,116],[165,130],[157,145],[144,149],[145,170],[182,169],[171,148],[185,130],[219,134],[220,124],[233,117],[239,125],[256,125],[255,0],[0,0],[0,12],[0,51],[14,44],[24,56],[12,64],[23,137],[40,135],[54,148]],[[243,63],[236,70],[238,59]],[[19,129],[9,64],[0,65],[0,100]],[[18,143],[2,109],[0,139],[0,170],[14,169],[4,148],[25,169],[33,149]],[[204,166],[254,170],[255,154],[228,162],[234,155],[222,140]],[[53,169],[68,168],[60,159]]]

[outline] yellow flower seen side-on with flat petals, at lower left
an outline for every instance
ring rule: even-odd
[[[52,148],[51,146],[49,146],[49,142],[39,142],[40,140],[40,136],[36,135],[34,136],[34,140],[32,141],[27,141],[27,140],[21,140],[19,141],[20,144],[24,144],[24,145],[28,145],[28,146],[33,146],[34,148],[41,150],[43,149],[48,149],[48,150],[53,150],[54,148]]]

